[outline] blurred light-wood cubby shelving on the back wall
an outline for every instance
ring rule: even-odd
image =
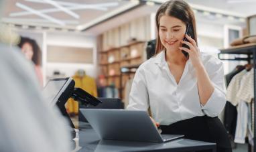
[[[123,66],[138,65],[143,62],[143,53],[145,52],[145,42],[132,42],[125,46],[111,48],[99,52],[101,74],[107,79],[107,85],[115,84],[119,89],[119,97],[122,97],[124,81],[127,75],[121,74],[120,68]]]

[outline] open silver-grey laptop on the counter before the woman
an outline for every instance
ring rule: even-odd
[[[141,110],[80,109],[101,139],[164,143],[184,135],[161,135]]]

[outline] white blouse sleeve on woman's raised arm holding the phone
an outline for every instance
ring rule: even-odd
[[[217,117],[226,104],[223,64],[220,60],[216,63],[216,60],[218,59],[215,59],[215,63],[209,61],[205,66],[214,85],[214,92],[212,92],[206,104],[202,106],[203,112],[209,117]]]

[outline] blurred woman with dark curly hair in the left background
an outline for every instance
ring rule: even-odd
[[[38,76],[38,80],[43,86],[43,75],[41,70],[41,51],[35,40],[32,40],[27,37],[21,37],[21,41],[18,44],[19,48],[21,48],[21,52],[25,55],[27,60],[31,60],[35,64],[36,75]]]

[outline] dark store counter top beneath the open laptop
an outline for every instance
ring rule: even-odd
[[[176,139],[167,143],[144,143],[132,141],[101,140],[93,129],[80,130],[76,150],[82,151],[216,151],[215,143],[193,141],[189,139]]]

